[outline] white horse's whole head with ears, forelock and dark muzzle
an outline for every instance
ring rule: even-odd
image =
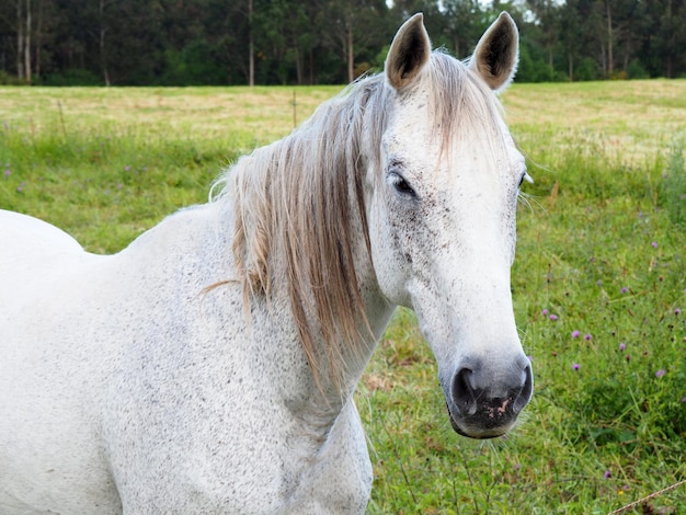
[[[432,53],[414,15],[390,47],[386,127],[380,149],[368,150],[376,152],[366,209],[379,288],[415,311],[453,427],[475,438],[508,431],[533,390],[510,285],[517,195],[528,175],[494,93],[512,80],[517,55],[506,13],[467,64]]]

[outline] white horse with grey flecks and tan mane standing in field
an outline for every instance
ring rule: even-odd
[[[242,158],[118,254],[0,217],[0,513],[362,513],[353,391],[397,305],[454,428],[510,430],[533,380],[510,268],[526,179],[494,91],[503,13],[465,65],[420,14],[385,72]]]

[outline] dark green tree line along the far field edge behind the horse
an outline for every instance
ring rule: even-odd
[[[464,58],[503,10],[518,81],[686,76],[686,0],[0,0],[0,83],[343,83],[414,12]]]

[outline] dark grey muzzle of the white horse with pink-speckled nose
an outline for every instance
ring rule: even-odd
[[[454,374],[446,404],[458,434],[494,438],[512,428],[534,390],[531,366],[524,359],[506,373],[462,366]]]

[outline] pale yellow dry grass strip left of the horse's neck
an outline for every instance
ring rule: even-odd
[[[165,139],[227,139],[242,151],[287,135],[341,87],[0,88],[0,123],[30,130],[116,127]]]

